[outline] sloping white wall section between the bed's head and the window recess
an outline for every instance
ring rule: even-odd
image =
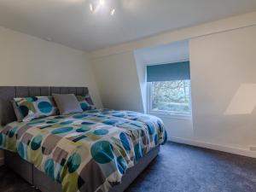
[[[133,52],[92,60],[104,108],[143,112],[143,100]]]

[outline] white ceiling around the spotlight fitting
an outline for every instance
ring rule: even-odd
[[[115,14],[92,14],[90,0],[1,0],[0,26],[92,51],[256,10],[256,0],[106,0]]]

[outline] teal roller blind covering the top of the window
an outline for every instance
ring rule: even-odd
[[[147,81],[172,81],[190,79],[189,61],[147,67]]]

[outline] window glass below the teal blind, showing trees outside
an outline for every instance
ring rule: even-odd
[[[190,113],[190,80],[152,83],[152,110]]]

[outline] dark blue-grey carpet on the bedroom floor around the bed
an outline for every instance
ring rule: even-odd
[[[39,192],[6,166],[0,167],[1,192]],[[253,192],[256,159],[206,148],[166,143],[159,156],[126,192]]]

